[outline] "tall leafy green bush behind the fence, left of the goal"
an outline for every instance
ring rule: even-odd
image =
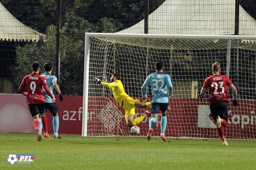
[[[60,62],[60,88],[65,95],[83,94],[84,72],[84,34],[77,32],[90,31],[91,24],[73,13],[67,14],[69,18],[62,28],[61,35],[61,62]],[[65,34],[69,33],[69,34]],[[24,47],[17,47],[17,69],[15,82],[20,83],[24,75],[31,73],[31,64],[38,61],[43,70],[43,64],[51,62],[55,65],[56,27],[48,26],[46,34],[38,42]],[[55,70],[54,70],[55,71]],[[42,73],[42,71],[40,72]],[[54,72],[53,72],[54,73]]]

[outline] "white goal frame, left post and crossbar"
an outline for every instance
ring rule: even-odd
[[[121,33],[85,33],[85,57],[84,57],[84,88],[83,88],[83,119],[82,136],[87,136],[88,115],[88,84],[89,84],[89,59],[90,59],[90,37],[122,37],[122,38],[179,38],[179,39],[238,39],[245,43],[253,41],[254,35],[170,35],[170,34],[121,34]],[[228,60],[228,58],[227,58]]]

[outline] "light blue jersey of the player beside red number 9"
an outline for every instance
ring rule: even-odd
[[[53,94],[53,81],[57,82],[57,78],[55,75],[52,75],[50,73],[43,73],[41,74],[43,77],[45,77],[46,79],[46,83],[49,87],[49,89],[51,90],[51,93]],[[44,102],[45,103],[53,103],[53,99],[46,93],[46,91],[44,90],[43,88],[43,91],[44,91]],[[54,94],[53,94],[53,97],[54,97]]]

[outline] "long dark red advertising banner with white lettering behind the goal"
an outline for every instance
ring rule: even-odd
[[[228,103],[229,126],[224,129],[229,139],[256,139],[256,102],[238,100],[238,107]],[[32,116],[29,113],[26,97],[23,95],[0,94],[0,132],[35,133]],[[83,97],[64,96],[59,102],[59,134],[82,134]],[[167,115],[167,137],[218,138],[215,121],[210,116],[206,99],[177,98],[170,100]],[[136,117],[144,115],[149,108],[136,108]],[[89,97],[88,135],[132,135],[124,119],[124,109],[113,97]],[[48,131],[53,133],[53,116],[47,112]],[[145,136],[148,120],[138,124]],[[160,135],[161,115],[154,126],[153,136]]]

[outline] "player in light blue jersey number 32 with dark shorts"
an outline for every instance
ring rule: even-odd
[[[165,129],[167,124],[167,110],[169,104],[169,98],[173,98],[173,86],[171,82],[171,78],[169,74],[163,72],[163,63],[156,63],[156,72],[148,75],[144,84],[141,87],[142,90],[142,101],[145,102],[146,95],[146,87],[148,84],[151,84],[152,89],[152,100],[151,100],[151,119],[149,121],[149,130],[147,133],[147,140],[151,139],[153,133],[154,124],[158,118],[159,110],[162,112],[161,118],[161,134],[160,138],[163,141],[166,141],[165,138]],[[167,85],[169,88],[169,94],[167,92]]]

